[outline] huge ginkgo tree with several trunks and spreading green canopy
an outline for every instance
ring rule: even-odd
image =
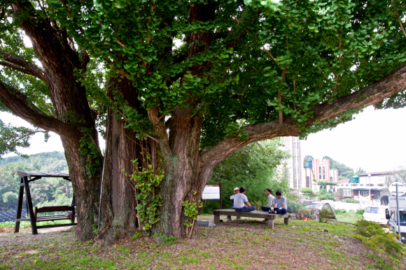
[[[100,115],[108,147],[99,232],[139,226],[193,237],[204,185],[232,152],[334,127],[365,106],[405,105],[403,1],[3,3],[13,20],[5,16],[1,26],[22,29],[33,50],[1,45],[0,64],[14,73],[2,73],[0,95],[7,110],[71,142],[64,146],[76,171],[78,214],[86,217],[77,229],[83,239],[97,219]],[[42,68],[12,61],[27,57]],[[27,83],[10,79],[28,80],[22,73],[48,87],[25,90]],[[52,101],[52,113],[43,111],[40,94]]]

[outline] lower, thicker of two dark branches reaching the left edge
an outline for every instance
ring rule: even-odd
[[[78,130],[56,118],[45,115],[38,107],[27,101],[27,97],[25,97],[24,94],[1,81],[0,97],[3,97],[3,104],[5,104],[10,111],[31,125],[41,127],[41,129],[49,130],[59,135],[76,136],[78,134]]]

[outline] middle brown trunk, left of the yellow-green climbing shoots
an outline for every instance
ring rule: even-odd
[[[99,232],[102,234],[99,238],[108,241],[119,234],[132,232],[137,226],[134,183],[130,178],[130,174],[134,171],[131,161],[136,158],[136,152],[139,152],[135,143],[137,139],[134,132],[125,129],[125,123],[115,116],[117,117],[109,109],[106,159],[100,197]]]

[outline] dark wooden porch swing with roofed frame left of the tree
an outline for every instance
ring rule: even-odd
[[[32,207],[31,192],[29,191],[29,182],[41,179],[43,177],[60,177],[65,180],[71,181],[69,174],[67,173],[44,173],[41,171],[13,171],[13,174],[20,176],[20,192],[18,194],[18,206],[17,206],[17,216],[15,217],[15,228],[14,233],[20,232],[20,222],[30,221],[32,234],[38,234],[37,229],[43,228],[53,228],[53,227],[64,227],[76,225],[76,211],[75,211],[75,195],[73,194],[71,206],[43,206],[40,208]],[[27,212],[29,213],[29,218],[21,218],[22,212],[22,197],[25,196],[27,199]],[[47,212],[59,212],[66,211],[66,214],[60,215],[41,215],[37,216],[37,213],[47,213]],[[36,222],[41,221],[55,221],[55,220],[71,220],[67,224],[55,224],[55,225],[42,225],[37,226]]]

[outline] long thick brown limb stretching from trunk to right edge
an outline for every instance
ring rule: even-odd
[[[313,109],[313,118],[309,118],[306,127],[313,126],[314,122],[325,122],[326,120],[337,118],[341,113],[345,113],[352,108],[361,109],[377,104],[379,101],[387,99],[405,89],[406,63],[399,66],[385,78],[365,87],[363,90],[340,97],[331,104],[326,102],[316,106]],[[248,125],[243,130],[248,134],[248,139],[244,141],[239,140],[237,137],[225,138],[211,148],[202,149],[200,151],[202,157],[201,166],[210,171],[210,168],[213,169],[218,162],[221,162],[225,157],[228,157],[228,155],[231,155],[248,143],[281,136],[297,136],[300,132],[296,122],[290,117],[283,120],[283,125],[279,125],[279,120],[274,120],[257,125]]]

